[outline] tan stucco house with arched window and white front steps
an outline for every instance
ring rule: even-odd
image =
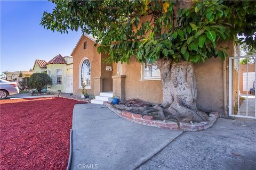
[[[130,64],[103,63],[102,59],[107,56],[99,54],[94,44],[95,40],[92,37],[82,35],[71,53],[74,58],[74,95],[81,96],[84,82],[87,92],[96,96],[96,100],[91,100],[92,103],[102,104],[106,96],[118,96],[122,101],[139,98],[152,103],[162,103],[162,81],[156,65],[141,64],[135,58]],[[234,56],[232,41],[223,43],[222,46],[230,47],[228,55]],[[220,58],[194,64],[199,109],[223,112],[223,67],[226,68],[223,65],[225,64]],[[109,91],[113,91],[113,95]],[[234,92],[237,93],[235,90]],[[110,98],[107,100],[111,101]]]

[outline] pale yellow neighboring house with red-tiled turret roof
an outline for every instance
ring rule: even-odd
[[[52,78],[52,92],[73,92],[73,57],[62,57],[60,54],[46,63],[47,74]]]

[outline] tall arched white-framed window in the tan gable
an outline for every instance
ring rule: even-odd
[[[85,87],[91,87],[91,64],[87,58],[81,64],[80,69],[80,86],[82,87],[84,84]]]

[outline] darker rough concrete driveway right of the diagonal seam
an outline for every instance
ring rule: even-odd
[[[256,121],[219,118],[210,129],[183,133],[138,169],[255,168]]]

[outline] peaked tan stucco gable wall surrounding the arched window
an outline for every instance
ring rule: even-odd
[[[87,41],[87,48],[83,49],[84,41]],[[100,77],[101,55],[97,52],[97,47],[94,47],[94,42],[83,36],[78,42],[72,56],[73,56],[73,94],[81,95],[82,87],[79,86],[79,67],[84,58],[88,58],[91,63],[91,88],[87,89],[88,94],[94,95],[94,77]]]

